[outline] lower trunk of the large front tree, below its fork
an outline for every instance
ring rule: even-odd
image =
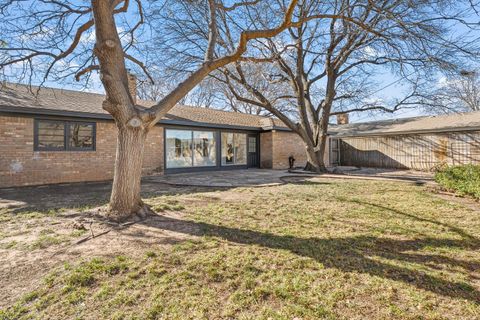
[[[140,196],[147,131],[142,126],[118,126],[115,173],[107,213],[111,219],[124,220],[147,212]]]

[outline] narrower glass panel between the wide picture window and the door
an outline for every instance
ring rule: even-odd
[[[222,132],[222,165],[247,164],[247,135]]]

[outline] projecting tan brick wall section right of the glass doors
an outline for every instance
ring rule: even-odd
[[[325,164],[328,166],[328,140],[325,152]],[[288,169],[288,157],[293,155],[295,167],[304,167],[307,163],[305,145],[293,132],[269,131],[260,134],[260,166],[270,169]]]

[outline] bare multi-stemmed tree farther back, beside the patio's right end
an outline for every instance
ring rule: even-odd
[[[468,1],[302,1],[296,14],[319,11],[334,14],[328,23],[302,20],[286,34],[256,41],[260,54],[213,75],[237,101],[268,110],[302,138],[307,170],[326,170],[332,115],[434,105],[420,89],[431,87],[435,72],[458,70],[466,58],[478,57],[478,41],[472,41],[478,34],[471,33],[478,30],[472,22],[475,4]],[[252,10],[250,17],[253,25],[264,21],[263,12]],[[255,72],[251,63],[258,66]],[[383,86],[375,74],[385,70],[409,88],[391,101],[375,97]],[[257,85],[259,79],[268,89]],[[295,106],[293,116],[282,110],[285,104]]]

